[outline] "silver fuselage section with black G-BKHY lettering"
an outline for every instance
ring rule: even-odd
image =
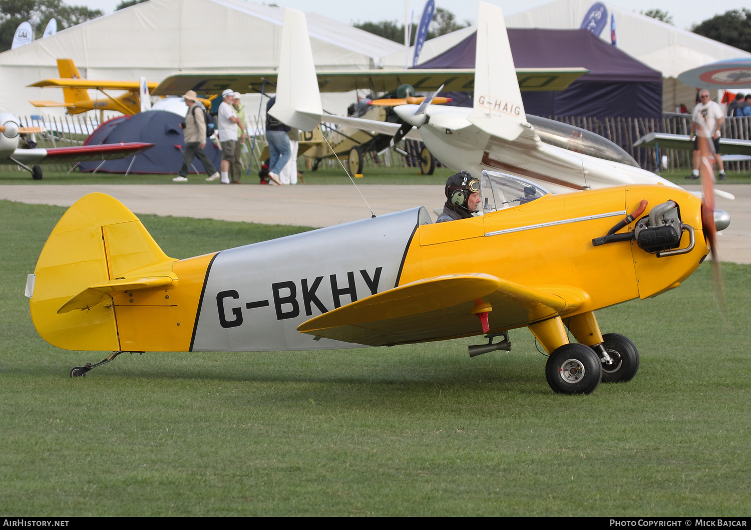
[[[427,220],[427,221],[426,221]],[[223,250],[207,271],[192,351],[359,347],[315,340],[297,326],[393,289],[424,208]]]

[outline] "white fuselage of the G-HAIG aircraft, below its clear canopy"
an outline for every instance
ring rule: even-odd
[[[429,105],[425,116],[415,117],[417,105],[400,105],[394,111],[408,123],[427,123],[418,132],[431,153],[441,162],[473,174],[483,170],[517,174],[537,181],[553,193],[570,192],[584,186],[601,188],[640,183],[677,187],[669,180],[632,165],[599,159],[583,153],[544,144],[533,126],[513,141],[490,135],[471,123],[467,117],[472,108]],[[413,123],[417,125],[417,123]]]

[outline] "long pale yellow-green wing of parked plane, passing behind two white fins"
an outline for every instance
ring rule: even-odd
[[[522,92],[562,90],[587,68],[517,68],[517,80]],[[261,92],[266,80],[266,92],[273,92],[276,71],[266,72],[178,72],[161,81],[153,95],[182,95],[188,90],[199,94],[220,94],[232,89],[242,94]],[[414,70],[355,70],[318,71],[321,92],[350,92],[354,89],[389,92],[403,83],[418,92],[428,92],[444,85],[445,91],[471,92],[475,86],[475,68],[426,68]],[[36,85],[35,85],[36,86]]]

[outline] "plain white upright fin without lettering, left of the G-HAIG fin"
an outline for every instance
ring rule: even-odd
[[[303,131],[312,131],[321,122],[321,93],[318,92],[308,25],[302,11],[284,10],[276,103],[269,109],[269,114]]]

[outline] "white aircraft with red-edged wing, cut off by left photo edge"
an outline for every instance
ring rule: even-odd
[[[42,132],[40,127],[20,126],[20,120],[13,114],[0,114],[0,164],[20,165],[32,174],[34,180],[41,180],[42,168],[38,165],[40,163],[123,159],[154,147],[154,144],[128,142],[123,144],[19,149],[20,135],[33,135],[40,132]]]

